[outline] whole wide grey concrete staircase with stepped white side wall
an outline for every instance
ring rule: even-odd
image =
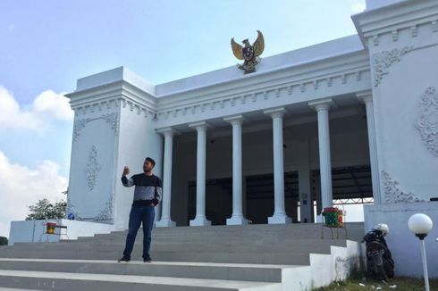
[[[347,230],[349,240],[343,229],[343,239],[332,239],[329,229],[321,239],[321,224],[154,229],[151,263],[141,261],[141,229],[129,263],[116,262],[124,231],[17,243],[0,247],[0,289],[310,290],[345,279],[358,265],[363,223]]]

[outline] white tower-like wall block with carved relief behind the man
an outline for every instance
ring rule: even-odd
[[[133,188],[122,187],[123,167],[130,167],[130,175],[142,172],[150,156],[156,173],[162,171],[154,90],[120,67],[79,79],[67,95],[75,111],[67,214],[128,227]]]

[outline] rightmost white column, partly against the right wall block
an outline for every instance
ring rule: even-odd
[[[373,184],[373,197],[375,204],[382,204],[380,195],[379,164],[377,160],[377,145],[375,143],[375,112],[371,91],[358,93],[358,99],[366,106],[366,125],[368,130],[369,160],[371,163],[371,182]]]

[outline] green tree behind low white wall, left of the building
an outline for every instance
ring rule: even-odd
[[[29,214],[26,220],[61,219],[65,217],[66,207],[67,203],[65,201],[51,203],[48,199],[44,198],[38,200],[37,204],[29,206]]]

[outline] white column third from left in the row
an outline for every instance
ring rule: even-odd
[[[227,225],[248,224],[242,206],[242,121],[241,115],[224,118],[232,124],[232,217]]]

